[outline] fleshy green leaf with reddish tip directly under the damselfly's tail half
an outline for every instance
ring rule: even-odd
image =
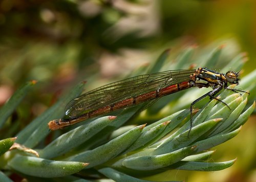
[[[53,158],[65,154],[92,138],[104,127],[108,126],[115,118],[116,117],[102,117],[62,134],[59,138],[40,151],[40,157]]]

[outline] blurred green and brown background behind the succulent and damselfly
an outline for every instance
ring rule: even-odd
[[[187,47],[227,46],[247,53],[243,76],[256,67],[254,0],[3,0],[0,34],[0,105],[20,85],[38,81],[14,113],[21,128],[79,81],[90,90],[121,79],[166,49],[177,54]],[[255,119],[209,159],[238,157],[230,168],[169,171],[152,180],[256,181]]]

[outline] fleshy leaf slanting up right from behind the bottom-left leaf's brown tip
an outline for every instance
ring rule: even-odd
[[[70,157],[69,161],[86,161],[90,163],[89,168],[102,164],[131,146],[139,138],[144,126],[137,126],[93,150],[78,153]]]

